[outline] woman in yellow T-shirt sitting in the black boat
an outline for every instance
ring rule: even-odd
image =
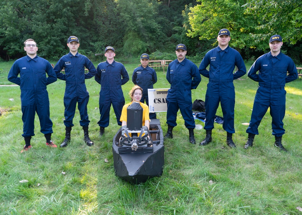
[[[143,89],[140,86],[135,85],[130,90],[129,95],[131,98],[131,102],[124,105],[122,109],[122,114],[120,116],[120,121],[122,122],[122,126],[127,125],[127,107],[133,102],[138,102],[140,103],[140,106],[142,106],[143,108],[143,126],[147,126],[147,128],[149,129],[149,125],[150,125],[149,107],[146,104],[140,102],[143,95]]]

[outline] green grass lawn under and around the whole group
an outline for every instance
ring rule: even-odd
[[[130,77],[138,64],[125,65]],[[12,62],[0,63],[0,84],[11,84],[7,81],[11,65]],[[158,70],[157,76],[154,87],[169,88],[165,74]],[[209,145],[191,145],[179,112],[174,138],[164,142],[162,176],[140,185],[129,184],[114,175],[112,138],[119,126],[111,110],[110,125],[104,136],[98,137],[99,110],[95,108],[100,85],[94,79],[86,80],[86,85],[90,95],[89,131],[95,145],[84,144],[76,110],[68,147],[47,148],[36,116],[33,148],[22,154],[20,89],[0,87],[0,107],[7,110],[0,117],[0,214],[301,214],[296,207],[302,207],[302,81],[286,85],[283,143],[289,153],[285,153],[273,145],[269,112],[259,126],[253,148],[243,149],[247,126],[241,123],[250,120],[257,83],[246,75],[242,79],[234,81],[233,139],[237,148],[227,147],[226,132],[219,124],[214,125]],[[192,100],[204,100],[207,82],[202,77],[198,89],[192,91]],[[126,102],[130,101],[128,92],[132,86],[131,81],[123,86]],[[47,90],[52,139],[59,145],[65,135],[65,83],[58,80]],[[222,116],[220,107],[217,115]],[[166,113],[157,116],[165,134]],[[201,121],[195,122],[204,126]],[[205,136],[203,129],[194,132],[198,142]],[[28,182],[20,183],[23,179]]]

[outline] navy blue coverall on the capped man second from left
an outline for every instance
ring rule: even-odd
[[[85,67],[89,70],[88,73],[85,73]],[[61,73],[63,68],[65,74]],[[72,120],[76,113],[76,103],[78,103],[81,117],[80,125],[82,127],[88,127],[90,123],[87,113],[89,93],[86,89],[85,79],[95,76],[95,66],[85,55],[81,55],[77,52],[76,55],[73,56],[69,52],[57,62],[54,70],[58,79],[66,81],[64,94],[64,125],[66,127],[74,126]]]

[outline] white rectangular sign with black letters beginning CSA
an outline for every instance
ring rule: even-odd
[[[168,89],[148,89],[149,112],[167,112]]]

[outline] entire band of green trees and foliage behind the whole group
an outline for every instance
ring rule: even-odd
[[[188,56],[201,61],[217,45],[217,32],[231,31],[230,46],[245,60],[268,51],[268,38],[280,34],[284,53],[302,62],[300,0],[2,0],[0,59],[24,56],[23,42],[35,39],[39,55],[57,61],[68,53],[66,40],[78,36],[79,52],[92,61],[104,60],[108,45],[118,56],[143,52],[157,59],[175,45],[186,44]],[[155,59],[154,58],[154,59]]]

